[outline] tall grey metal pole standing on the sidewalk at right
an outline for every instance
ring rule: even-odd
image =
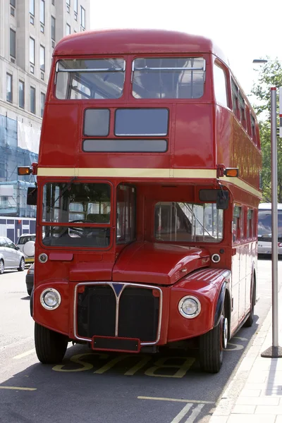
[[[282,357],[278,346],[278,212],[277,212],[277,111],[276,87],[271,87],[271,256],[272,256],[272,346],[262,357]]]

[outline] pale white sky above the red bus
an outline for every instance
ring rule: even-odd
[[[281,0],[90,0],[91,30],[166,29],[213,39],[247,95],[258,75],[253,59],[282,61],[281,16]]]

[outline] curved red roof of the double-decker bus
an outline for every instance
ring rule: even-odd
[[[211,39],[168,30],[96,30],[68,35],[56,44],[54,56],[93,54],[213,53],[228,64]]]

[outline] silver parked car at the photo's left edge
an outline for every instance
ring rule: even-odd
[[[25,255],[11,240],[0,237],[0,274],[4,274],[5,269],[25,270]]]

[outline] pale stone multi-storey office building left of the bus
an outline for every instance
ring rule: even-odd
[[[17,168],[37,161],[52,52],[90,28],[90,0],[0,0],[0,22],[0,216],[32,217]]]

